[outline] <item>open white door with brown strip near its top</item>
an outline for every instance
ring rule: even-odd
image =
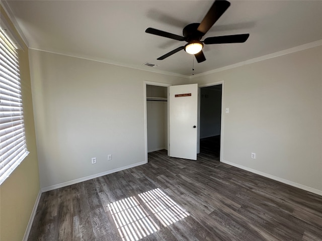
[[[197,160],[198,84],[170,86],[168,101],[168,155]]]

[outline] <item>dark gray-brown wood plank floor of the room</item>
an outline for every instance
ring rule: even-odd
[[[148,164],[45,192],[34,240],[322,240],[322,197],[220,163]]]

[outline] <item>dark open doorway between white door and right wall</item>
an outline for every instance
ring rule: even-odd
[[[200,88],[200,154],[219,161],[222,84]]]

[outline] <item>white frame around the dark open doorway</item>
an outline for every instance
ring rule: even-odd
[[[200,93],[200,88],[202,87],[209,87],[209,86],[214,86],[221,84],[221,120],[220,120],[220,154],[219,154],[219,161],[222,162],[223,160],[223,137],[224,137],[224,116],[225,116],[225,103],[224,103],[224,88],[225,88],[225,81],[216,81],[212,83],[207,83],[207,84],[198,84],[199,88],[199,93]],[[198,99],[198,143],[197,143],[197,149],[198,151],[200,150],[200,94],[199,94],[199,99]]]

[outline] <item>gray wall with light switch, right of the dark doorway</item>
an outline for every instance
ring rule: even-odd
[[[223,116],[223,161],[322,195],[322,47],[191,82],[215,81],[224,81],[229,108]]]

